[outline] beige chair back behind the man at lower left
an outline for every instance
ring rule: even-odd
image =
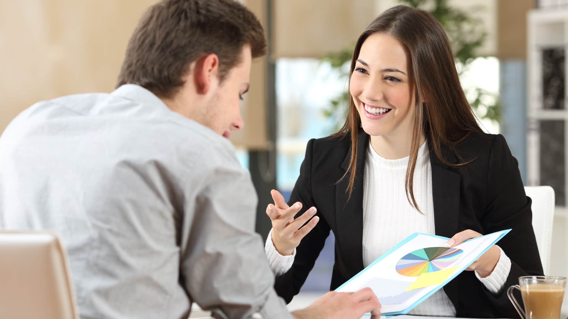
[[[0,231],[0,318],[78,319],[59,236]]]

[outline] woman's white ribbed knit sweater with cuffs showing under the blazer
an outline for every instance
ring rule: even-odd
[[[434,234],[434,202],[432,198],[432,169],[427,143],[420,146],[414,171],[414,196],[421,215],[412,208],[404,192],[404,177],[409,157],[385,159],[369,144],[365,161],[363,188],[363,262],[369,266],[412,233]],[[270,231],[272,234],[272,230]],[[265,251],[275,274],[290,269],[293,255],[282,256],[268,236]],[[491,275],[475,275],[492,293],[499,293],[511,270],[511,261],[501,250],[499,262]],[[379,300],[380,301],[380,300]],[[438,290],[409,314],[425,316],[456,316],[454,305],[443,289]]]

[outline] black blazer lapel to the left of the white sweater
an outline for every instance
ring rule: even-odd
[[[340,243],[341,255],[345,257],[343,265],[349,271],[349,276],[354,276],[363,270],[363,176],[365,169],[365,153],[369,144],[369,135],[359,129],[357,138],[357,168],[355,170],[355,182],[351,199],[345,192],[349,185],[349,175],[337,183],[335,192],[335,211],[337,223],[337,237]],[[347,153],[341,168],[346,171],[349,168],[351,150]]]

